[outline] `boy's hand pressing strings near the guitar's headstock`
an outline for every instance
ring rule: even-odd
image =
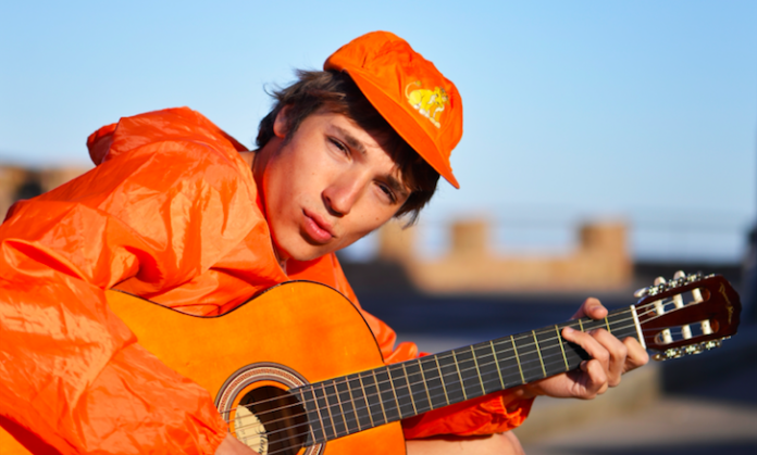
[[[601,319],[607,316],[607,308],[597,299],[586,299],[573,319],[583,316]],[[649,355],[634,338],[621,341],[605,329],[582,332],[566,327],[562,337],[583,347],[592,359],[584,361],[578,370],[523,386],[523,397],[548,395],[592,400],[618,386],[621,375],[649,361]]]

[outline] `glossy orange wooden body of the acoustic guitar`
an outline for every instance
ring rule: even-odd
[[[293,381],[318,382],[384,365],[360,312],[313,282],[276,286],[218,317],[190,316],[116,291],[108,292],[108,302],[142,346],[207,389],[216,405],[225,400],[227,408],[258,388],[285,391]],[[30,453],[1,428],[0,448],[3,455]],[[405,454],[405,439],[400,424],[393,422],[299,453]]]

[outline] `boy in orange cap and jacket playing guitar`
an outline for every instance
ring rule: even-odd
[[[449,155],[462,106],[388,33],[357,38],[324,69],[276,93],[256,151],[187,109],[123,118],[90,136],[95,169],[10,211],[0,425],[37,453],[252,453],[227,435],[207,391],[137,344],[103,292],[216,315],[311,279],[357,304],[334,252],[392,217],[417,217],[439,175],[458,187]],[[588,300],[580,313],[605,309]],[[418,355],[365,318],[387,363]],[[635,341],[604,330],[563,334],[594,357],[581,371],[410,419],[406,437],[425,439],[409,453],[518,453],[506,430],[533,396],[593,397],[646,362]]]

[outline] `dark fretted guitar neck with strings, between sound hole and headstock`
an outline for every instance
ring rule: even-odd
[[[634,306],[293,390],[306,403],[310,443],[321,443],[576,369],[591,358],[562,339],[570,326],[640,339]]]

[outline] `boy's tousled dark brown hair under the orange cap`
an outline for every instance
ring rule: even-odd
[[[385,138],[384,148],[397,164],[405,185],[412,190],[395,217],[409,214],[408,226],[415,223],[421,208],[436,191],[439,174],[392,128],[346,73],[297,71],[297,77],[295,84],[271,93],[275,104],[260,122],[256,140],[258,148],[265,146],[274,136],[273,123],[285,106],[288,106],[286,140],[291,138],[309,115],[320,109],[344,114],[361,128]]]

